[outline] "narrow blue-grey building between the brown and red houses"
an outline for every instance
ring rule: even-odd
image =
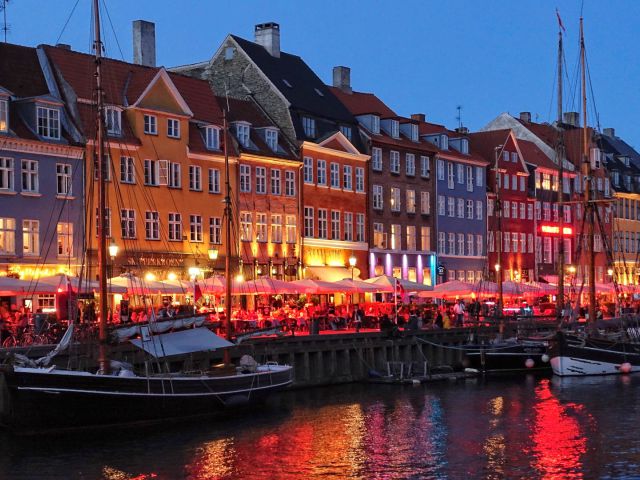
[[[423,123],[436,157],[437,282],[476,282],[486,275],[487,161],[469,149],[467,129]]]

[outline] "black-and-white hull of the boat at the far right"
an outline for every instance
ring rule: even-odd
[[[617,375],[640,371],[640,344],[637,343],[558,332],[549,345],[555,375]],[[628,364],[626,368],[624,364]]]

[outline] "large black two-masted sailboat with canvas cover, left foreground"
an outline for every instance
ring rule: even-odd
[[[100,19],[98,0],[93,2],[94,49],[97,102],[98,208],[100,218],[106,212],[104,105],[101,95]],[[224,132],[226,135],[226,119]],[[225,148],[227,142],[225,141]],[[226,219],[227,244],[230,243],[230,185],[228,158]],[[264,399],[269,393],[292,383],[293,369],[288,365],[259,365],[244,358],[239,367],[217,370],[209,364],[213,350],[224,349],[225,364],[230,364],[229,349],[234,346],[203,326],[197,319],[186,328],[158,333],[158,324],[137,326],[137,338],[129,341],[146,354],[141,367],[110,358],[107,329],[107,236],[104,222],[98,222],[98,268],[100,294],[99,366],[96,369],[71,370],[52,365],[53,358],[72,341],[74,324],[70,322],[61,342],[48,355],[37,360],[14,355],[11,363],[0,367],[0,423],[20,434],[59,431],[126,423],[149,423],[168,419],[210,415],[220,410],[247,405]],[[231,318],[231,276],[229,255],[227,273],[227,322]],[[187,322],[185,324],[185,322]],[[162,329],[160,329],[162,330]],[[231,335],[231,328],[227,329]],[[121,340],[129,335],[119,335]],[[176,369],[175,367],[178,366]],[[188,370],[187,370],[188,368]]]

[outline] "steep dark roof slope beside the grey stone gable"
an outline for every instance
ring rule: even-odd
[[[337,122],[354,123],[349,111],[300,57],[285,52],[273,57],[262,45],[236,35],[230,37],[289,101],[291,108]]]

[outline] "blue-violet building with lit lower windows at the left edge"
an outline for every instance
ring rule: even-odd
[[[0,275],[77,273],[84,148],[50,89],[46,57],[0,44]],[[51,298],[35,299],[47,308]]]

